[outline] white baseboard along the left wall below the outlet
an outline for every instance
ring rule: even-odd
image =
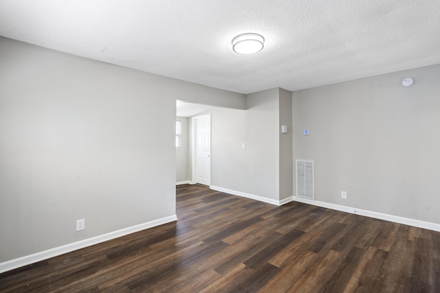
[[[22,266],[28,266],[31,263],[36,263],[38,261],[43,261],[45,259],[50,259],[51,257],[57,257],[58,255],[63,255],[65,253],[71,253],[74,250],[92,246],[101,242],[106,242],[111,239],[129,235],[131,233],[139,232],[147,228],[152,228],[169,222],[177,220],[177,215],[170,215],[166,218],[161,218],[153,220],[151,222],[146,222],[143,224],[138,224],[128,228],[123,228],[118,231],[113,231],[110,233],[98,235],[88,239],[84,239],[78,242],[66,244],[63,246],[58,246],[48,250],[41,251],[40,253],[34,253],[32,255],[25,255],[24,257],[19,257],[17,259],[11,259],[10,261],[4,261],[0,263],[0,273],[7,272],[8,270],[14,270],[15,268],[21,268]]]

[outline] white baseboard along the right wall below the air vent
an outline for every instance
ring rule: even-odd
[[[339,204],[331,204],[329,202],[320,202],[318,200],[308,200],[307,198],[298,198],[294,196],[296,202],[303,202],[305,204],[311,204],[318,207],[325,207],[327,209],[335,209],[336,211],[344,211],[346,213],[355,213],[357,215],[365,215],[366,217],[386,220],[390,222],[395,222],[399,224],[405,224],[408,226],[415,226],[419,228],[424,228],[432,231],[440,232],[440,224],[435,224],[432,222],[425,222],[421,220],[414,220],[410,218],[399,217],[398,215],[388,215],[386,213],[377,213],[376,211],[367,211],[364,209],[355,209],[353,207],[346,207]]]

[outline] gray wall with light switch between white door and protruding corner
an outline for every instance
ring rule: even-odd
[[[211,185],[278,200],[278,89],[247,95],[246,104],[245,111],[214,108],[203,113],[212,115]]]

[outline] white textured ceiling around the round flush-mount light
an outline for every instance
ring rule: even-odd
[[[232,51],[246,32],[263,51]],[[0,35],[239,93],[295,91],[439,64],[440,1],[1,0]]]

